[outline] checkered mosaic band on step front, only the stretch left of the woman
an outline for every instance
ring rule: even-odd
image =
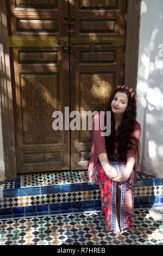
[[[100,200],[99,190],[4,198],[0,199],[0,209],[54,203],[80,202],[86,200]]]

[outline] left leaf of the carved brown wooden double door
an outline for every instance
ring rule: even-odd
[[[52,113],[70,106],[68,0],[7,0],[17,172],[70,169],[70,131]],[[66,145],[66,147],[65,147]]]

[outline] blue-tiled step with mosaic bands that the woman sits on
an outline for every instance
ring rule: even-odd
[[[86,170],[23,174],[1,187],[0,218],[101,211],[99,187]],[[135,208],[163,206],[163,178],[139,173],[134,197]]]

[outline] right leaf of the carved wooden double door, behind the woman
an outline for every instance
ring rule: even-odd
[[[70,1],[71,111],[104,111],[124,81],[127,0]],[[91,131],[71,131],[71,169],[86,169]]]

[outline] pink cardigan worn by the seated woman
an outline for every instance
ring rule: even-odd
[[[92,120],[91,159],[90,159],[89,167],[88,167],[88,175],[89,175],[89,179],[90,179],[91,182],[93,182],[91,176],[92,176],[93,170],[94,170],[94,168],[95,168],[95,166],[98,162],[99,154],[106,153],[105,137],[101,136],[102,131],[100,129],[100,126],[99,126],[99,130],[95,130],[95,119],[97,120],[97,122],[99,122],[100,118],[101,118],[101,115],[98,113],[93,117],[93,120]],[[136,121],[134,131],[131,133],[131,136],[136,137],[137,139],[140,139],[140,134],[141,134],[141,126],[140,126],[140,123],[138,123]],[[126,158],[128,159],[129,157],[134,157],[135,160],[136,160],[135,152],[131,151],[131,150],[127,151]],[[135,166],[134,166],[134,176],[135,176],[135,179],[136,179],[136,163],[135,163]]]

